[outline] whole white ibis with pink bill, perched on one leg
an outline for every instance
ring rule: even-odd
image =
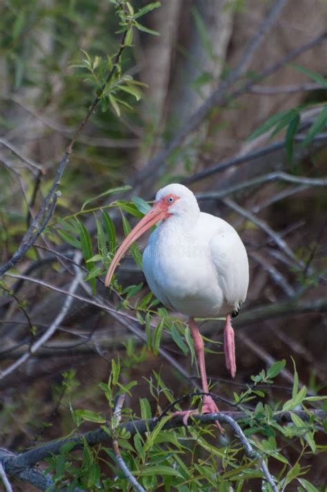
[[[237,231],[225,220],[200,211],[192,191],[183,185],[168,185],[157,192],[155,205],[121,243],[108,269],[106,286],[128,247],[158,222],[160,225],[150,235],[143,253],[144,274],[161,303],[189,316],[201,384],[204,393],[208,393],[204,342],[195,318],[226,316],[226,367],[235,377],[235,341],[230,319],[246,299],[246,249]],[[202,412],[218,411],[212,397],[205,395]],[[189,413],[190,410],[185,414]]]

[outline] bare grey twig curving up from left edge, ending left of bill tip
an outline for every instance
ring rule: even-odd
[[[75,255],[75,261],[77,261],[77,263],[78,263],[78,261],[81,261],[81,253],[80,252],[77,252],[77,254]],[[0,379],[3,379],[4,377],[8,376],[11,372],[16,370],[19,366],[21,366],[21,364],[26,362],[31,357],[32,354],[37,352],[37,350],[44,343],[46,343],[46,341],[48,341],[48,339],[50,339],[50,337],[52,337],[52,335],[54,334],[54,332],[57,330],[58,326],[60,325],[61,321],[63,321],[63,319],[65,318],[65,316],[66,316],[66,314],[70,308],[70,305],[72,304],[72,299],[73,299],[72,294],[74,294],[75,290],[77,290],[77,287],[78,287],[79,283],[81,282],[81,277],[82,277],[81,271],[79,269],[76,269],[75,278],[72,281],[70,288],[68,290],[68,296],[66,297],[66,301],[63,303],[63,307],[61,308],[59,314],[57,314],[54,321],[49,326],[48,330],[46,330],[46,332],[44,332],[43,335],[36,342],[34,342],[32,344],[32,346],[30,346],[30,350],[28,352],[26,352],[21,357],[19,357],[19,359],[17,361],[15,361],[14,363],[11,364],[11,366],[9,366],[8,368],[6,368],[5,370],[0,372]]]

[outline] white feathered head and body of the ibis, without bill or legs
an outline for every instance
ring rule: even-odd
[[[164,187],[156,201],[169,194],[180,198],[143,253],[150,289],[168,308],[188,316],[238,312],[248,290],[248,257],[237,231],[199,211],[195,196],[183,185]]]

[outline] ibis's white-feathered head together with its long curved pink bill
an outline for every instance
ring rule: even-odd
[[[186,186],[179,185],[177,183],[168,185],[159,189],[155,196],[155,203],[148,211],[139,223],[130,231],[130,234],[126,236],[117,249],[117,253],[113,258],[108,273],[106,274],[105,285],[110,285],[115,269],[121,260],[121,257],[132,243],[139,238],[150,227],[157,224],[161,220],[167,220],[170,217],[177,217],[184,219],[188,216],[194,216],[199,213],[199,205],[197,205],[197,199]]]

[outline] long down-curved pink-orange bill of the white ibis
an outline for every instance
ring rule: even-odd
[[[119,248],[117,249],[117,252],[110,264],[110,267],[108,269],[108,272],[106,274],[106,279],[104,281],[104,284],[106,287],[110,285],[110,282],[112,280],[112,276],[115,273],[115,269],[121,260],[121,257],[126,253],[127,249],[130,247],[132,243],[134,243],[137,238],[139,238],[144,232],[146,232],[152,225],[157,224],[160,220],[163,220],[168,216],[166,207],[163,207],[163,204],[161,202],[157,202],[150,211],[148,211],[148,214],[146,214],[140,221],[139,223],[130,231],[130,234],[126,236],[126,238],[123,240]]]

